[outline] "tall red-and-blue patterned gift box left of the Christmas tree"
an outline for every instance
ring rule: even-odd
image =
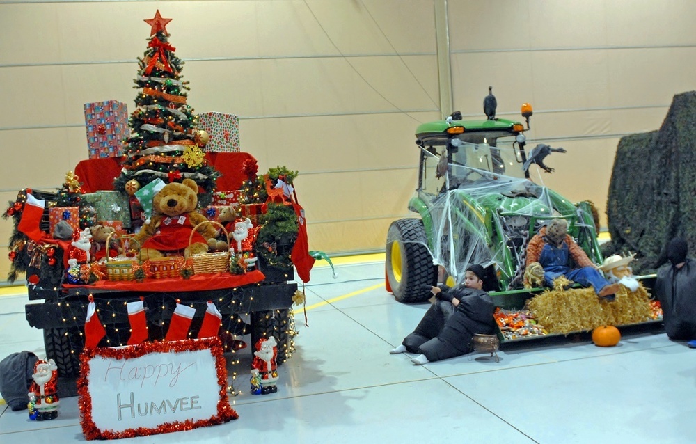
[[[128,108],[116,100],[86,103],[85,123],[90,159],[120,157],[129,135]]]

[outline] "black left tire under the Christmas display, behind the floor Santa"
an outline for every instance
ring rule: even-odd
[[[80,354],[84,348],[79,328],[46,328],[44,331],[46,358],[53,359],[58,376],[75,378],[80,374]]]

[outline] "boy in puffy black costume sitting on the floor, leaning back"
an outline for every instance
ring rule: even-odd
[[[475,333],[495,331],[495,306],[483,289],[486,271],[480,265],[466,269],[464,285],[430,287],[436,297],[416,330],[404,338],[390,354],[418,353],[411,361],[416,365],[454,358],[470,351],[469,343]]]

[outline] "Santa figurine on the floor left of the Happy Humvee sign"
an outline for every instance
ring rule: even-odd
[[[54,360],[37,360],[33,383],[29,387],[29,419],[36,421],[52,420],[58,417],[58,367]]]

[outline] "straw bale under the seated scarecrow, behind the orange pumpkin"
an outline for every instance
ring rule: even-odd
[[[635,292],[622,285],[612,302],[599,299],[592,288],[547,290],[530,299],[528,307],[548,333],[568,334],[652,319],[649,294],[642,284]]]

